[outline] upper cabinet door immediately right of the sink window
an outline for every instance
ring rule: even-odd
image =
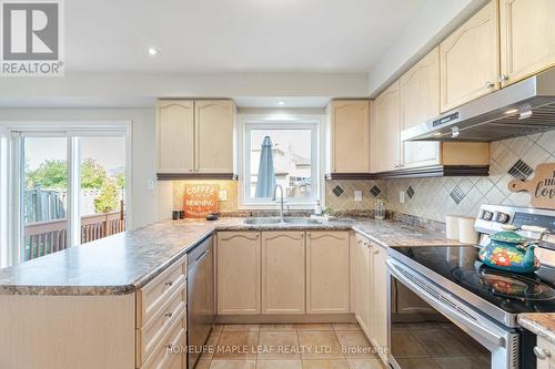
[[[332,172],[370,172],[367,100],[337,100],[330,105]]]

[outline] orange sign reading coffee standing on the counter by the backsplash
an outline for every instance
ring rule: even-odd
[[[209,213],[218,213],[219,185],[188,184],[183,189],[185,218],[204,218]]]

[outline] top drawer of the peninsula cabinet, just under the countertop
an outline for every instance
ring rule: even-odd
[[[186,285],[186,256],[137,293],[137,328],[142,328],[179,289]]]

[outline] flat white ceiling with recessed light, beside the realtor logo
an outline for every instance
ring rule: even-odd
[[[65,68],[369,72],[426,0],[64,1]],[[149,48],[159,54],[148,54]]]

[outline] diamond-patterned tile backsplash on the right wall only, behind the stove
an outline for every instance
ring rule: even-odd
[[[537,164],[555,162],[555,131],[493,142],[491,154],[487,177],[387,181],[387,208],[445,222],[447,214],[476,216],[483,203],[529,206],[529,194],[512,193],[507,184],[514,178],[532,178]],[[401,192],[404,203],[400,202]]]

